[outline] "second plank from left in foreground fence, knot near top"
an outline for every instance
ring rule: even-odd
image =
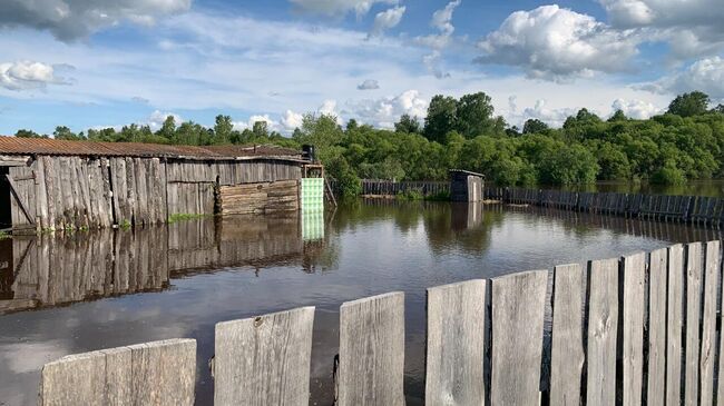
[[[314,307],[216,325],[214,405],[306,405]]]

